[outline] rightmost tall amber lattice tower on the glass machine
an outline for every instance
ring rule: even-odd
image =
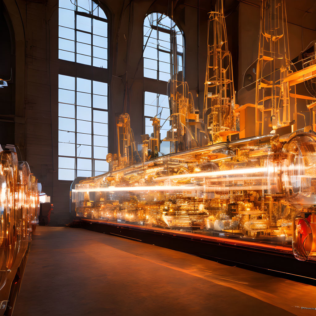
[[[256,81],[256,135],[293,125],[289,101],[291,73],[284,0],[262,0]],[[294,111],[296,113],[296,111]]]

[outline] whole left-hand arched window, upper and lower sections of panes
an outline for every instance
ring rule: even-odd
[[[103,10],[91,0],[59,0],[58,12],[59,59],[77,67],[107,68],[108,28]],[[58,76],[59,180],[108,170],[108,84],[95,80],[92,73],[86,78],[64,72]]]

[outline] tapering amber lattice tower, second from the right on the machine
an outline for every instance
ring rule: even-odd
[[[223,1],[217,0],[208,22],[208,55],[203,119],[213,143],[237,134],[232,57],[228,50]]]

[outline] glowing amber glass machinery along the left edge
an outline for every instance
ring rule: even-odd
[[[13,310],[40,210],[37,179],[15,150],[0,147],[0,315]],[[14,282],[13,282],[14,281]],[[4,307],[4,308],[3,308]]]

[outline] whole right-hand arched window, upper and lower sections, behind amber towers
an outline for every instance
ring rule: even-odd
[[[178,74],[178,80],[182,80],[184,77],[184,48],[183,34],[171,18],[158,12],[146,16],[143,48],[144,77],[168,82]],[[170,129],[167,84],[166,94],[157,93],[155,85],[151,85],[151,87],[151,91],[144,92],[145,134],[151,135],[153,126],[150,119],[157,116],[162,125],[160,130],[162,140]],[[160,151],[164,154],[169,153],[169,142],[162,142]]]

